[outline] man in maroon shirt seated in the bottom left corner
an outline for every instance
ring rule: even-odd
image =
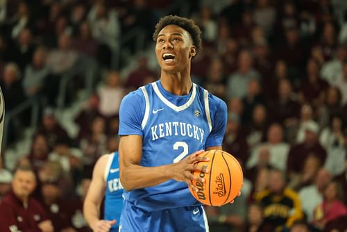
[[[41,204],[31,197],[35,187],[33,170],[18,167],[13,176],[12,191],[0,203],[0,231],[53,232],[52,222]]]

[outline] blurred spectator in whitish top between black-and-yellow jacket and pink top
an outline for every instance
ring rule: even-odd
[[[299,191],[299,197],[301,199],[303,212],[305,213],[307,222],[312,222],[314,217],[314,208],[323,201],[323,190],[325,185],[329,183],[330,179],[330,173],[326,169],[321,168],[315,176],[314,183],[303,187]]]

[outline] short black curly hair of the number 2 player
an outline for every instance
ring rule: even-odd
[[[153,41],[156,42],[158,38],[158,34],[160,31],[162,31],[162,28],[164,28],[167,25],[177,25],[181,28],[185,29],[190,35],[190,37],[193,40],[193,44],[196,47],[196,53],[202,49],[201,45],[201,30],[194,22],[193,19],[188,19],[186,17],[179,17],[177,15],[167,15],[162,17],[158,24],[155,25],[155,31],[153,33]]]

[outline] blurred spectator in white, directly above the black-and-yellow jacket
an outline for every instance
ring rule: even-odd
[[[282,126],[280,124],[271,124],[267,131],[266,142],[255,147],[247,161],[247,167],[250,169],[262,160],[267,165],[285,172],[288,151],[289,144],[283,142]]]

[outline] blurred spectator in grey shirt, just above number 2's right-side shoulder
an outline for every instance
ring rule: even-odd
[[[239,53],[238,69],[228,77],[226,97],[244,97],[248,82],[253,78],[260,78],[260,74],[253,69],[253,58],[249,51]]]

